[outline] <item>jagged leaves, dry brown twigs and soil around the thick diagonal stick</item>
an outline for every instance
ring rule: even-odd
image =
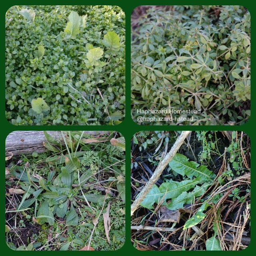
[[[178,135],[134,135],[132,201]],[[243,250],[250,243],[250,139],[243,132],[191,132],[140,206],[131,220],[138,250]]]

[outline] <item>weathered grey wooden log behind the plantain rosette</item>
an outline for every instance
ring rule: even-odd
[[[62,141],[62,134],[60,131],[47,131],[55,140]],[[104,134],[109,135],[106,131],[85,131],[86,134],[90,134],[94,137],[102,136]],[[43,131],[15,131],[11,132],[5,143],[6,156],[31,154],[32,152],[44,152],[46,148],[43,143],[46,142]]]

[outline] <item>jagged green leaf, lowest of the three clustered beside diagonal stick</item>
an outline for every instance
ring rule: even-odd
[[[193,203],[195,197],[202,196],[206,192],[208,186],[210,186],[210,183],[204,183],[202,186],[196,186],[192,192],[182,192],[178,197],[172,199],[166,207],[170,210],[183,208],[184,204]]]

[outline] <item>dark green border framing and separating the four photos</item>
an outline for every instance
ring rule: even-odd
[[[242,6],[246,6],[246,8],[248,8],[248,10],[251,13],[251,29],[252,31],[255,31],[255,26],[256,26],[256,18],[253,15],[254,11],[255,11],[255,4],[252,3],[252,1],[213,1],[214,4],[230,4],[230,5],[242,5]],[[255,105],[255,100],[254,98],[252,98],[252,102],[251,102],[251,117],[250,120],[242,125],[242,126],[139,126],[138,124],[135,124],[135,122],[132,121],[132,118],[130,116],[130,15],[132,13],[132,10],[136,7],[136,6],[140,6],[140,5],[173,5],[173,4],[180,4],[180,5],[189,5],[189,4],[194,4],[194,5],[208,5],[209,2],[208,1],[200,1],[200,0],[195,0],[193,2],[188,1],[188,0],[180,0],[180,1],[167,1],[167,0],[161,0],[161,1],[152,1],[152,0],[137,0],[137,1],[117,1],[117,0],[73,0],[73,1],[68,1],[68,0],[58,0],[58,1],[54,1],[55,5],[101,5],[101,4],[105,4],[105,5],[118,5],[120,6],[125,14],[126,14],[126,117],[124,118],[124,121],[117,125],[117,126],[14,126],[12,124],[10,124],[5,117],[5,63],[4,63],[4,58],[5,58],[5,51],[4,51],[4,47],[5,47],[5,42],[4,42],[4,38],[5,38],[5,13],[8,10],[8,8],[10,8],[13,5],[36,5],[36,4],[44,4],[44,5],[52,5],[53,1],[49,1],[49,0],[44,0],[44,1],[32,1],[32,0],[24,0],[24,1],[6,1],[4,3],[2,3],[2,8],[0,11],[0,17],[1,17],[1,28],[0,28],[0,33],[2,36],[2,40],[0,41],[1,43],[1,70],[2,70],[2,75],[1,75],[1,81],[2,81],[2,86],[1,86],[1,91],[0,91],[0,102],[2,102],[2,108],[0,111],[0,121],[2,123],[2,136],[0,138],[0,145],[2,147],[2,152],[4,154],[4,148],[5,148],[5,139],[6,136],[15,130],[116,130],[120,133],[123,134],[123,136],[126,138],[126,242],[124,244],[124,246],[117,251],[96,251],[96,252],[90,252],[94,255],[96,254],[104,254],[104,255],[119,255],[121,254],[135,254],[135,255],[154,255],[154,254],[164,254],[167,255],[170,252],[168,251],[163,251],[163,252],[154,252],[154,251],[146,251],[146,252],[142,252],[142,251],[138,251],[136,249],[134,249],[132,247],[132,244],[130,242],[130,207],[129,207],[129,202],[130,202],[130,139],[132,138],[133,134],[135,134],[136,132],[140,131],[140,130],[242,130],[243,132],[245,132],[246,134],[248,134],[250,136],[251,139],[251,153],[254,154],[255,151],[255,146],[256,146],[256,134],[254,132],[254,125],[253,123],[256,121],[255,120],[255,114],[254,114],[254,110],[256,109],[256,105]],[[255,45],[255,35],[254,32],[252,33],[251,36],[251,44]],[[255,54],[255,49],[254,47],[252,47],[251,49],[251,54],[252,54],[252,60],[254,60],[254,57],[256,57]],[[254,70],[254,61],[252,61],[252,70]],[[253,73],[254,74],[254,73]],[[251,94],[252,95],[256,95],[256,88],[254,86],[254,82],[255,81],[255,77],[252,76],[252,82],[251,84],[252,89],[251,89]],[[4,170],[4,160],[2,161],[2,170]],[[255,161],[251,162],[251,168],[252,170],[254,170],[256,167]],[[2,178],[4,180],[4,172],[2,171]],[[254,172],[252,172],[252,180],[255,179],[255,174]],[[4,182],[4,181],[3,181]],[[4,187],[2,187],[2,198],[1,198],[1,204],[2,204],[2,210],[0,211],[0,216],[2,217],[2,219],[4,220]],[[254,185],[252,186],[252,195],[255,194],[254,192]],[[252,208],[251,208],[251,212],[252,212],[252,216],[254,216],[254,211],[255,211],[255,206],[254,206],[254,199],[253,199],[253,203],[252,203]],[[251,225],[252,225],[252,234],[255,234],[255,221],[251,221]],[[254,244],[254,240],[255,240],[255,236],[252,235],[251,238],[252,242],[251,244],[248,246],[248,248],[246,248],[245,250],[239,251],[239,252],[230,252],[230,251],[225,251],[225,252],[218,252],[220,254],[225,254],[225,255],[230,255],[232,253],[236,253],[239,255],[245,255],[247,253],[251,253],[254,250],[254,246],[256,247],[256,244]],[[11,249],[8,248],[8,246],[6,245],[5,242],[5,236],[4,236],[4,221],[1,224],[1,231],[0,231],[0,244],[2,245],[2,252],[3,253],[14,253],[14,251],[12,251]],[[62,254],[68,255],[70,253],[70,251],[68,252],[61,252]],[[183,252],[183,251],[179,251],[179,252],[175,252],[172,251],[172,254],[188,254],[188,252]],[[205,251],[194,251],[194,252],[190,252],[192,254],[210,254],[213,255],[215,252],[205,252]],[[34,252],[18,252],[19,255],[32,255],[34,254]],[[39,254],[43,254],[43,255],[53,255],[53,254],[58,254],[58,252],[53,252],[53,251],[44,251],[44,252],[39,252]],[[78,251],[72,251],[72,254],[80,254],[80,252]]]

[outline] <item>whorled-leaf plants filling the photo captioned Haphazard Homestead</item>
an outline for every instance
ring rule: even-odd
[[[201,110],[167,114],[184,120],[140,124],[244,124],[250,117],[246,8],[139,6],[132,14],[131,47],[134,120],[138,109]]]

